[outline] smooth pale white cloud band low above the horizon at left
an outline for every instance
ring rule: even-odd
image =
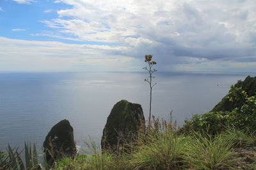
[[[127,49],[0,37],[0,71],[132,71],[134,62],[139,63],[134,57],[112,55],[123,50]]]

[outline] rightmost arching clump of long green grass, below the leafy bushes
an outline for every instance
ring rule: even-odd
[[[219,136],[188,136],[186,159],[191,169],[231,169],[233,141]]]

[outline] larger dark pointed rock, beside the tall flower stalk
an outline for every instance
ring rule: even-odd
[[[122,100],[115,104],[108,116],[101,139],[102,149],[119,150],[124,143],[132,143],[138,131],[145,129],[145,118],[140,104]]]

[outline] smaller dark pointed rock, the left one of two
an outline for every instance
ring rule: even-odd
[[[73,127],[68,120],[61,120],[52,127],[44,141],[44,153],[47,164],[52,166],[54,161],[63,157],[74,158],[76,152]]]

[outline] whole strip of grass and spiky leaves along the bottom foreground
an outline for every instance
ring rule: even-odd
[[[228,128],[216,135],[178,134],[171,121],[166,123],[153,118],[138,141],[127,146],[129,152],[100,150],[100,146],[91,141],[86,143],[90,153],[77,155],[75,159],[63,158],[51,169],[255,169],[255,157],[250,157],[250,162],[238,164],[234,156],[241,155],[237,152],[239,148],[253,148],[255,136],[252,131]],[[3,165],[13,169],[36,169],[35,145],[26,144],[24,153],[26,162],[22,162],[20,153],[9,146],[7,153],[0,152],[0,169]]]

